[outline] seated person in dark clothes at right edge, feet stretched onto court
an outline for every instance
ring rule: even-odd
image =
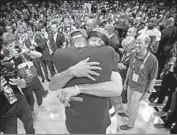
[[[165,68],[161,74],[162,77],[162,85],[160,88],[160,96],[157,100],[157,103],[152,103],[152,106],[161,106],[164,103],[164,99],[166,96],[168,96],[168,101],[163,108],[162,111],[157,112],[156,114],[159,116],[162,116],[164,114],[167,114],[167,112],[170,109],[170,104],[172,100],[172,95],[175,91],[175,88],[177,87],[177,64],[176,64],[176,57],[177,57],[177,46],[174,45],[174,51],[171,52],[171,58],[168,60],[168,62],[165,65]]]

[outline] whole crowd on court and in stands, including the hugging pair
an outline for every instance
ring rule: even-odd
[[[176,5],[159,1],[9,1],[1,5],[0,132],[19,118],[35,134],[34,95],[45,111],[49,90],[65,106],[67,134],[109,134],[112,117],[135,126],[140,103],[162,80],[156,112],[177,133]],[[91,7],[84,3],[91,4]],[[174,3],[174,4],[173,4]],[[90,8],[90,9],[89,9]],[[119,107],[127,104],[125,112]],[[94,110],[94,111],[93,111]]]

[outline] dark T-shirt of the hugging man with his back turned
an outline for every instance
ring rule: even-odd
[[[75,65],[81,60],[90,57],[89,61],[97,61],[102,68],[96,81],[88,78],[73,78],[65,87],[76,84],[93,84],[109,81],[111,73],[115,70],[115,51],[112,47],[93,47],[84,48],[70,47],[58,49],[54,54],[54,62],[58,72],[62,72]],[[66,127],[71,134],[99,134],[104,133],[110,125],[109,98],[96,97],[87,94],[80,94],[83,102],[71,101],[71,107],[65,109]]]

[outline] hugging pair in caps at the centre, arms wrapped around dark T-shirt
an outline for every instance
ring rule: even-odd
[[[94,37],[89,41],[90,46],[86,31],[76,30],[71,33],[72,47],[56,51],[54,61],[59,73],[52,78],[49,87],[50,90],[61,89],[57,91],[60,101],[71,106],[65,108],[68,133],[105,134],[111,123],[109,97],[120,95],[121,78],[114,72],[114,50],[102,46],[109,43],[109,34],[94,29],[89,35]],[[70,102],[73,98],[83,102]]]

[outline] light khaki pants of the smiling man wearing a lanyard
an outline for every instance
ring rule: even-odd
[[[135,125],[142,96],[143,93],[139,93],[137,91],[132,90],[131,88],[128,88],[127,91],[128,104],[126,114],[129,116],[128,119],[129,127],[134,127]]]

